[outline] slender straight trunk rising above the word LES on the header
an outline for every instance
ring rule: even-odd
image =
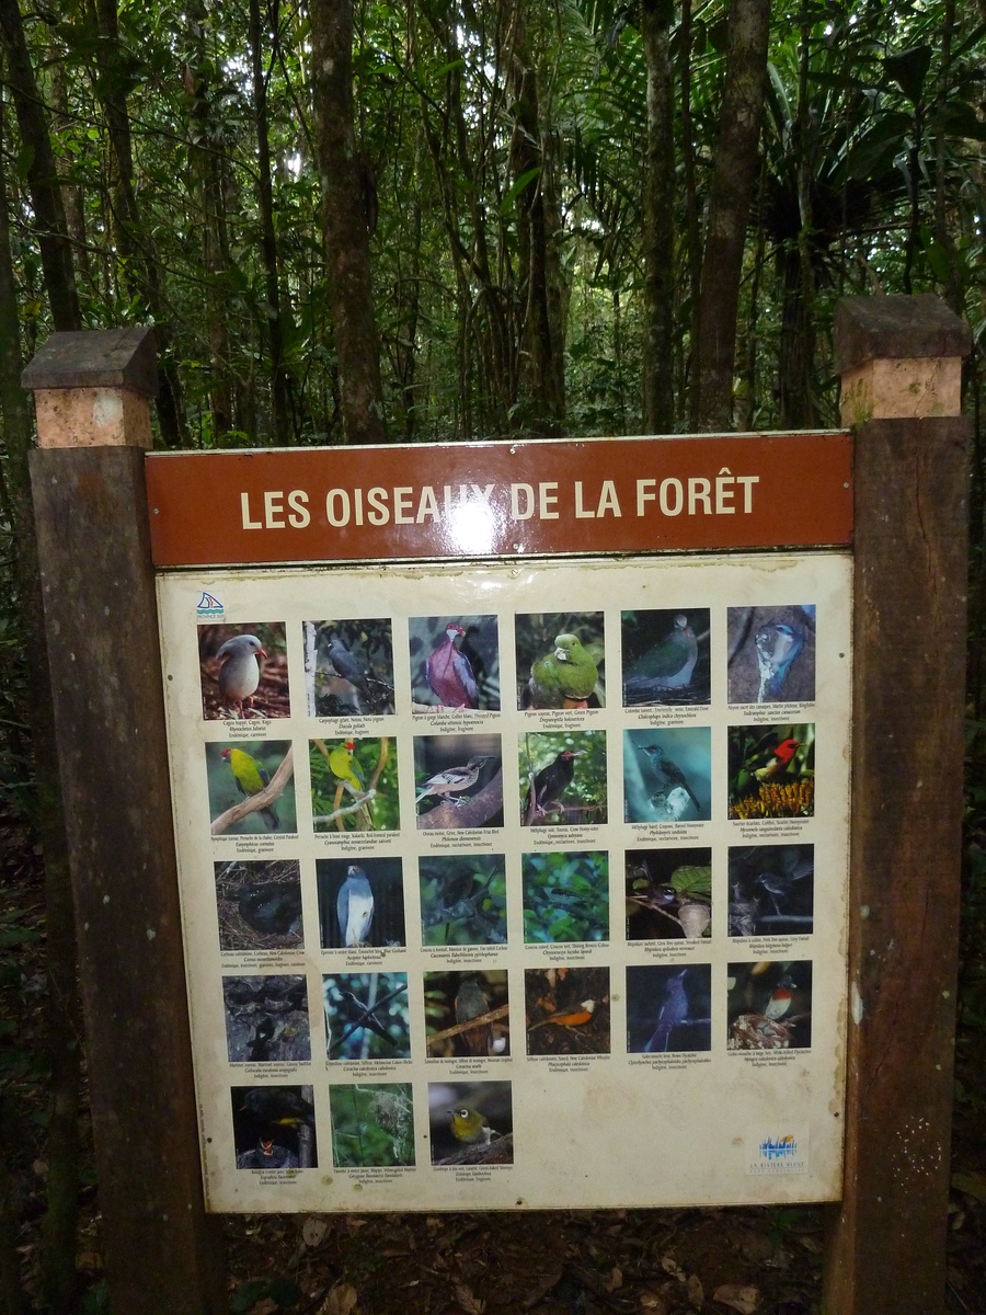
[[[273,0],[272,29],[277,30],[277,0]],[[288,371],[284,364],[284,316],[277,270],[277,237],[273,229],[273,181],[271,143],[267,126],[267,75],[263,68],[260,0],[250,0],[250,54],[254,66],[254,117],[256,120],[256,199],[260,210],[260,254],[267,288],[267,338],[271,347],[271,402],[273,438],[280,447],[294,442],[291,422]]]

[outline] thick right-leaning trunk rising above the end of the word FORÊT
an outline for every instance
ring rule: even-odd
[[[747,221],[764,109],[769,0],[732,0],[726,82],[709,200],[698,326],[697,425],[732,425],[732,370]]]

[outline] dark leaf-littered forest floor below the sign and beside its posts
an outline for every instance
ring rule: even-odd
[[[11,935],[13,934],[13,935]],[[35,1290],[45,1208],[43,893],[26,830],[0,815],[0,1103]],[[958,1038],[948,1310],[986,1315],[986,1035]],[[80,1315],[106,1315],[91,1137]],[[820,1207],[230,1215],[233,1315],[818,1315]]]

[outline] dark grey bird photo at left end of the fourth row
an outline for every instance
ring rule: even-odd
[[[302,976],[223,977],[230,1064],[309,1063],[312,1034]]]

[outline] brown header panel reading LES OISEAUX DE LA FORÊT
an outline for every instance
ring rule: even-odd
[[[147,456],[156,567],[848,544],[852,437]]]

